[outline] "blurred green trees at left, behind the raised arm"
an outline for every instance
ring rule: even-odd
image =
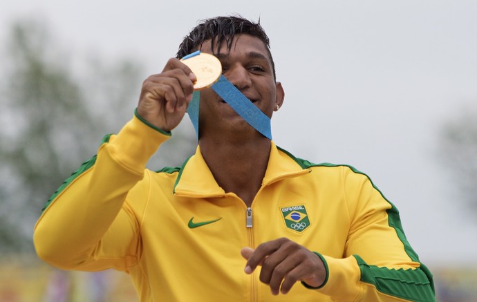
[[[3,45],[8,80],[0,94],[0,253],[32,252],[33,225],[46,200],[95,154],[104,134],[132,117],[141,68],[99,56],[75,65],[77,57],[40,21],[15,22]],[[173,135],[169,144],[183,146],[162,155],[168,165],[193,153],[190,130]]]

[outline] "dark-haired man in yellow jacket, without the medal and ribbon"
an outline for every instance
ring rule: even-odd
[[[217,17],[184,39],[267,117],[283,103],[268,37]],[[429,270],[397,209],[352,167],[279,149],[212,88],[198,148],[180,168],[145,169],[183,119],[196,75],[178,59],[142,86],[133,120],[48,201],[37,253],[71,270],[127,272],[141,301],[433,301]],[[301,284],[300,284],[301,283]]]

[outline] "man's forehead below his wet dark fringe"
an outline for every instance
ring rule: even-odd
[[[269,51],[265,43],[261,39],[247,34],[235,35],[230,51],[227,49],[227,41],[223,41],[220,48],[217,47],[216,40],[214,40],[214,44],[212,48],[212,39],[205,40],[200,46],[200,51],[213,55],[229,55],[235,52],[262,53],[265,57],[269,57]]]

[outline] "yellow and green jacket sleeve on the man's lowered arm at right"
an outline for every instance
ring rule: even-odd
[[[318,254],[328,277],[317,290],[335,301],[436,301],[432,274],[409,245],[396,207],[366,175],[342,169],[350,230],[343,258]]]

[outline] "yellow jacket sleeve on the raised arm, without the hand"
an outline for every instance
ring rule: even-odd
[[[127,200],[147,199],[145,165],[169,136],[137,115],[118,135],[106,136],[97,155],[48,200],[33,235],[39,258],[70,270],[127,270],[137,263],[140,217]]]

